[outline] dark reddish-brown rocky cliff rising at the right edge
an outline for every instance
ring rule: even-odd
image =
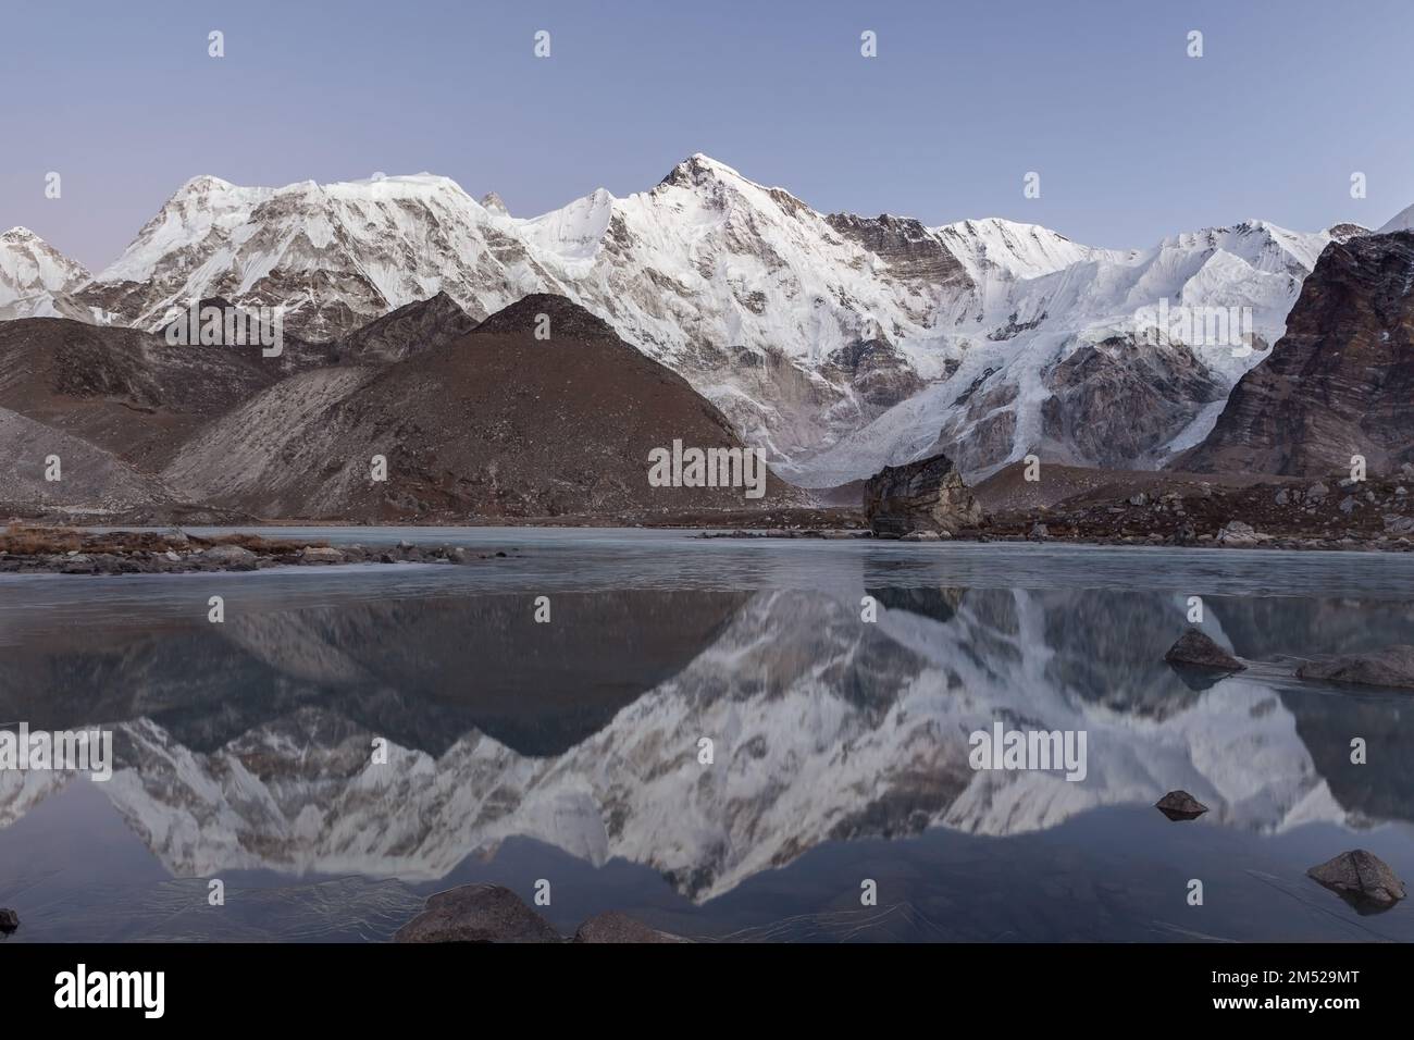
[[[1414,232],[1326,246],[1271,355],[1233,388],[1212,433],[1169,468],[1372,474],[1414,461]]]

